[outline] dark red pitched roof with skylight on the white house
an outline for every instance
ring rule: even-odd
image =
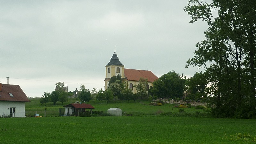
[[[0,87],[0,101],[30,102],[19,85],[0,84]],[[13,97],[11,97],[10,93]]]

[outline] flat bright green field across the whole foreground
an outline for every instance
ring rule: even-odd
[[[167,116],[72,116],[42,118],[0,118],[0,124],[0,143],[4,144],[219,144],[254,143],[256,140],[256,120],[251,119],[215,119]],[[236,135],[238,133],[241,133],[242,135]],[[246,136],[245,139],[243,134]],[[233,135],[234,137],[230,135]],[[234,141],[234,139],[237,140]]]

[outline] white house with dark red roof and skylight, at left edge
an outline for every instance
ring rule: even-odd
[[[0,117],[25,117],[25,102],[30,102],[19,85],[0,83]]]

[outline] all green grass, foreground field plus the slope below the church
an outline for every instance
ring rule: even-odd
[[[172,104],[90,101],[95,110],[118,107],[132,116],[59,117],[58,102],[47,103],[44,117],[45,106],[30,100],[26,113],[43,117],[0,118],[0,143],[256,143],[255,119],[216,119],[194,107],[180,113]]]

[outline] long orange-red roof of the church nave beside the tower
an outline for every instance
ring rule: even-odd
[[[124,68],[124,76],[129,81],[139,81],[140,77],[147,78],[148,82],[154,82],[158,77],[149,70],[137,70]]]

